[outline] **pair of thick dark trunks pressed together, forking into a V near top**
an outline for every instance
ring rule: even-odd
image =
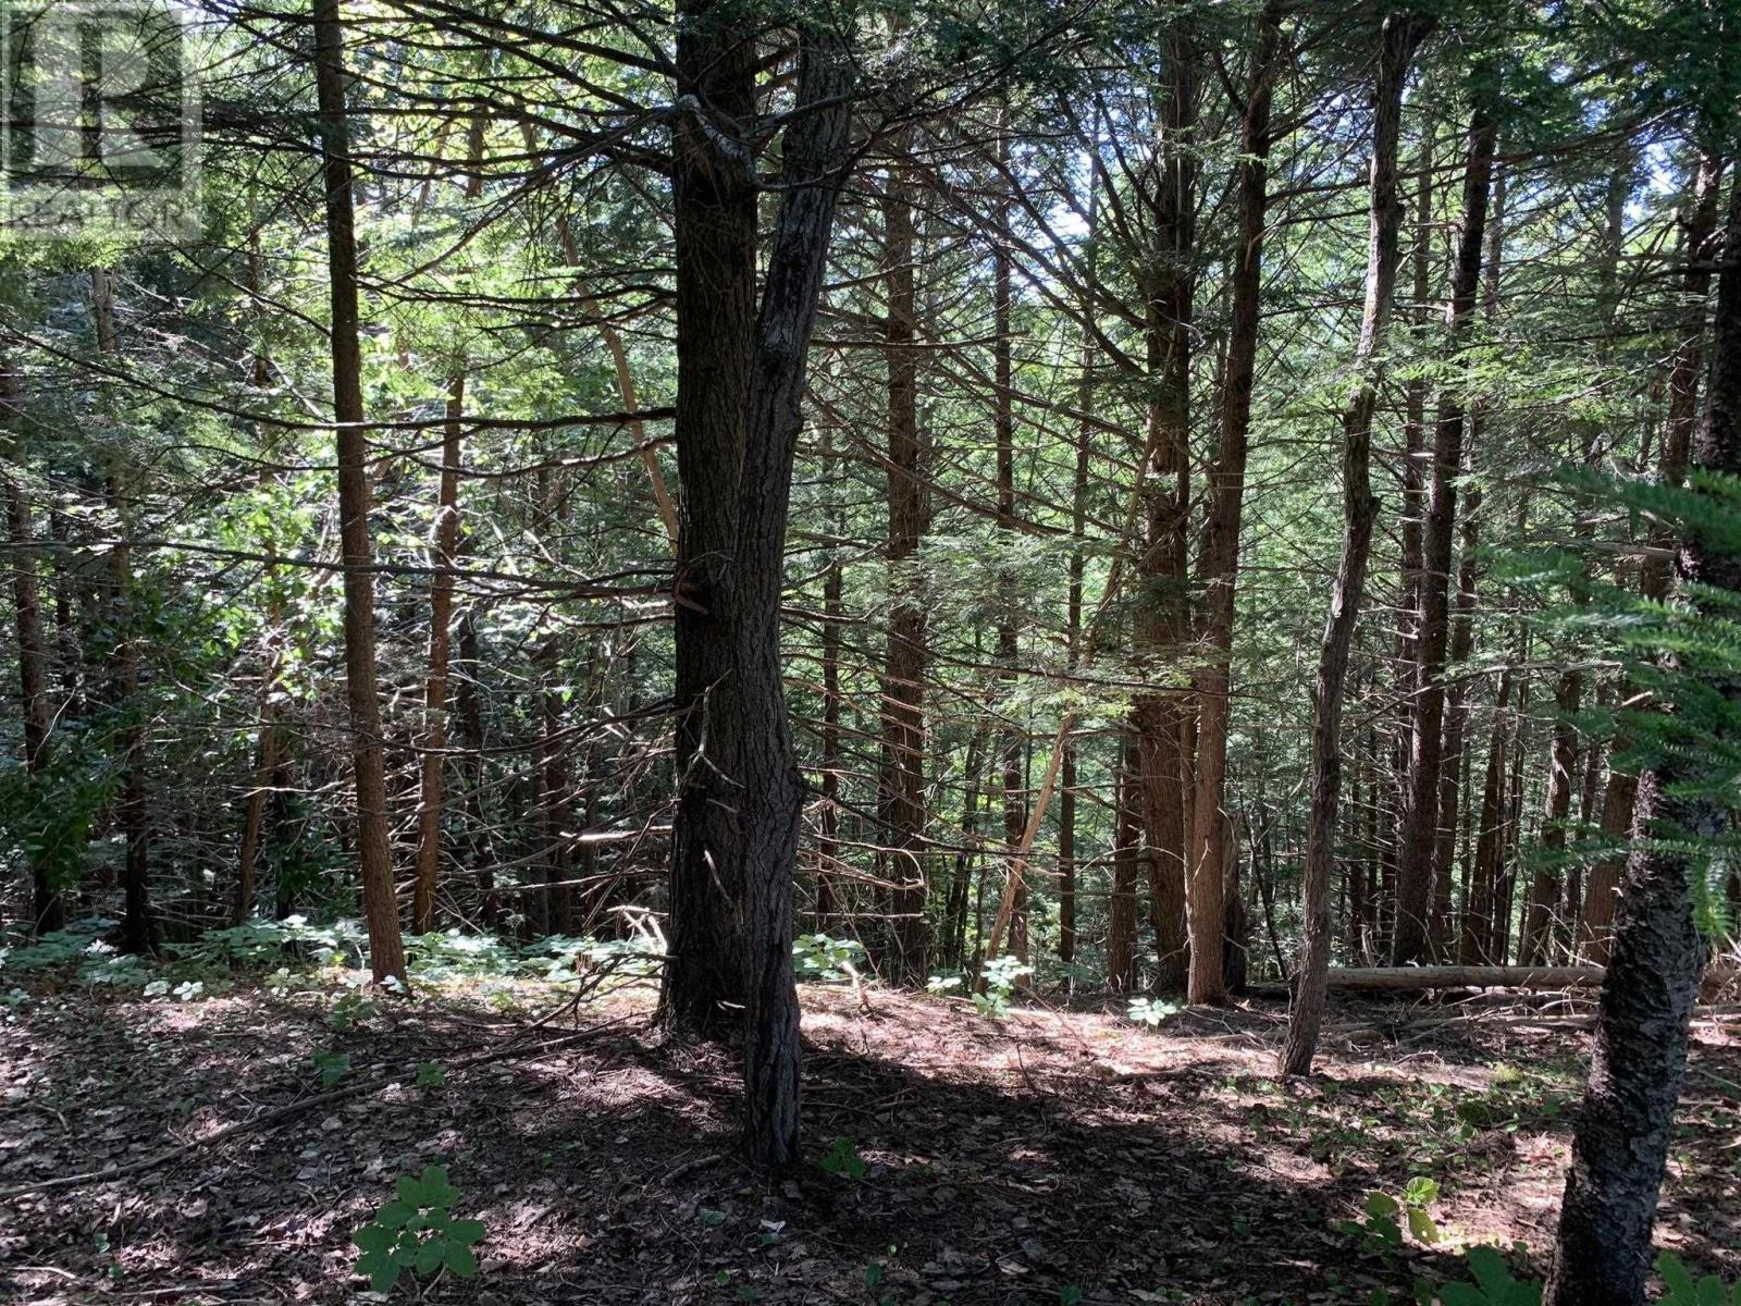
[[[676,1029],[719,1033],[721,1001],[742,1000],[743,1148],[752,1165],[775,1170],[797,1160],[799,1067],[792,871],[801,782],[780,667],[780,590],[853,70],[834,33],[801,30],[797,115],[782,143],[783,195],[757,312],[756,190],[749,143],[733,138],[754,120],[756,59],[754,33],[705,3],[684,5],[684,108],[674,129],[682,716],[674,958],[662,1010]]]

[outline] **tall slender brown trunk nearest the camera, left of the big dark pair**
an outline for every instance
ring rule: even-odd
[[[345,693],[357,785],[357,855],[369,970],[406,980],[393,860],[387,838],[381,703],[374,688],[374,543],[369,536],[369,434],[362,409],[357,308],[357,232],[350,129],[345,117],[345,33],[338,0],[315,0],[315,91],[326,178],[327,268],[333,294],[333,418],[338,423],[339,557],[345,568]]]

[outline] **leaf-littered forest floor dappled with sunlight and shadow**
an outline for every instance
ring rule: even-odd
[[[0,1299],[364,1301],[352,1231],[430,1163],[454,1214],[484,1222],[481,1273],[402,1282],[400,1301],[1365,1306],[1461,1278],[1461,1247],[1523,1243],[1515,1264],[1539,1269],[1551,1243],[1581,1029],[1341,1005],[1325,1076],[1281,1087],[1278,1003],[1149,1029],[1034,1006],[991,1020],[876,987],[803,996],[806,1151],[844,1172],[768,1191],[733,1160],[729,1055],[662,1043],[644,989],[581,1008],[583,1027],[613,1024],[566,1045],[575,1017],[528,1031],[561,1001],[538,984],[414,1003],[14,991]],[[420,1062],[444,1083],[418,1087]],[[322,1069],[350,1095],[214,1137],[320,1094]],[[1741,1029],[1696,1031],[1682,1121],[1661,1242],[1732,1276]],[[14,1191],[183,1144],[124,1179]],[[1440,1186],[1436,1245],[1344,1224],[1417,1175]]]

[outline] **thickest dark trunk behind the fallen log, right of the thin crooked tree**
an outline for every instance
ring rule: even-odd
[[[1462,171],[1462,226],[1452,270],[1445,326],[1455,350],[1475,313],[1480,287],[1489,181],[1494,167],[1497,129],[1492,113],[1476,103],[1469,115],[1468,153]],[[1396,932],[1391,959],[1421,961],[1428,953],[1433,860],[1438,852],[1440,777],[1445,761],[1445,653],[1450,634],[1450,552],[1457,519],[1457,475],[1462,467],[1466,401],[1450,383],[1440,399],[1433,439],[1433,481],[1428,493],[1426,535],[1421,559],[1417,662],[1419,683],[1408,749],[1408,803],[1396,853]]]

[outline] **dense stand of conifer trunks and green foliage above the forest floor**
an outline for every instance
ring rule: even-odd
[[[1642,1301],[1741,912],[1741,9],[68,14],[0,19],[14,968],[629,965],[775,1172],[794,965],[1281,996],[1285,1074],[1605,979],[1546,1292]]]

